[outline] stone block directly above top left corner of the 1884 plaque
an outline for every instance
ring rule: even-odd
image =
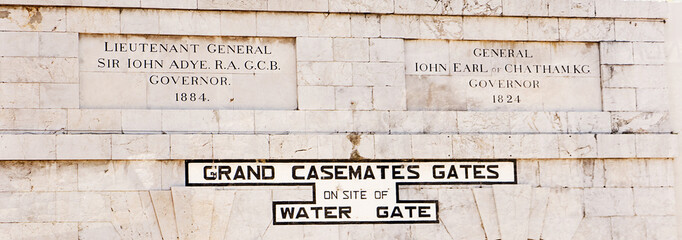
[[[164,16],[162,14],[161,16]],[[120,33],[121,10],[114,8],[67,8],[66,31],[78,33]]]

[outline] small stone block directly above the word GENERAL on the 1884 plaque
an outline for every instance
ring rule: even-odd
[[[221,12],[220,34],[228,36],[256,36],[256,13]]]

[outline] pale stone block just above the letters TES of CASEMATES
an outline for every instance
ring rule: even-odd
[[[412,158],[412,137],[409,135],[375,135],[374,152],[377,159]]]

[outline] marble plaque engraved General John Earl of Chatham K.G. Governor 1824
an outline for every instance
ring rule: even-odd
[[[601,111],[597,43],[405,41],[408,110]]]

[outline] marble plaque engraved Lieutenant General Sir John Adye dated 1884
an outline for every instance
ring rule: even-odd
[[[294,41],[81,34],[80,105],[296,109]]]

